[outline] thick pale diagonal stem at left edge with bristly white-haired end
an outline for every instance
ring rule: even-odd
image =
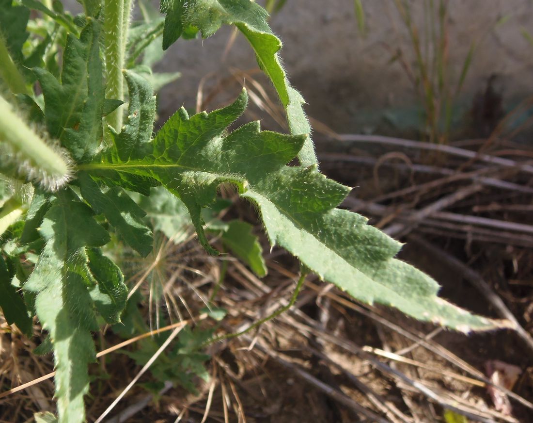
[[[40,182],[45,188],[55,190],[70,179],[66,154],[59,154],[48,146],[20,118],[0,96],[0,146],[4,145],[17,171],[28,179]],[[9,157],[9,156],[8,156]],[[2,157],[4,161],[4,157]],[[4,163],[5,164],[5,163]]]

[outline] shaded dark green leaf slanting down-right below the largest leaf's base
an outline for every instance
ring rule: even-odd
[[[152,234],[144,225],[142,218],[146,215],[123,189],[112,187],[105,193],[90,176],[79,175],[82,197],[98,214],[103,214],[130,245],[141,256],[146,257],[152,251]]]

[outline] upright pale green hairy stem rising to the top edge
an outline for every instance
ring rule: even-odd
[[[124,100],[126,44],[132,0],[104,0],[104,55],[106,58],[107,89],[109,99]],[[123,111],[118,107],[107,116],[107,123],[120,132]]]

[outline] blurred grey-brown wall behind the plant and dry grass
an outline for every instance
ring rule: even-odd
[[[427,135],[438,126],[452,136],[482,135],[533,88],[529,0],[270,3],[285,68],[308,114],[337,132]],[[179,40],[158,67],[182,74],[160,94],[161,117],[195,105],[200,83],[208,91],[256,67],[229,27]]]

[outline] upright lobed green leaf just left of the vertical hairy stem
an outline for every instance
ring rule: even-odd
[[[61,79],[34,68],[41,84],[46,127],[76,161],[92,157],[103,136],[104,86],[100,24],[88,19],[79,39],[68,34]]]

